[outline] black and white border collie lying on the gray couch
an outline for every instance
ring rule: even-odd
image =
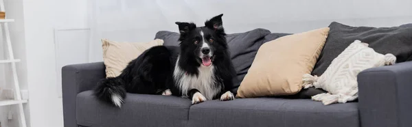
[[[117,77],[98,83],[95,96],[121,107],[126,92],[205,100],[233,100],[236,72],[229,57],[220,14],[204,27],[180,23],[180,46],[154,46],[139,55]]]

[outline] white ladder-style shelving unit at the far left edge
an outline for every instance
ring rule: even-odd
[[[0,11],[5,12],[3,0],[0,0]],[[19,62],[20,59],[14,59],[12,41],[10,40],[10,31],[8,28],[8,23],[12,22],[14,22],[14,19],[8,19],[7,16],[5,17],[5,19],[0,19],[0,27],[2,29],[1,33],[3,33],[3,39],[5,39],[5,43],[8,48],[8,50],[5,50],[8,51],[8,59],[0,59],[0,64],[10,64],[12,68],[12,77],[14,83],[14,100],[0,100],[0,106],[17,105],[19,107],[19,124],[21,127],[26,127],[27,124],[25,122],[23,103],[26,103],[27,100],[21,99],[21,91],[16,71],[16,62]]]

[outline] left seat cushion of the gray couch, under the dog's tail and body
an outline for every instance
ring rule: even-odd
[[[82,126],[185,126],[192,105],[176,96],[127,94],[119,109],[92,94],[83,91],[76,99],[76,119]]]

